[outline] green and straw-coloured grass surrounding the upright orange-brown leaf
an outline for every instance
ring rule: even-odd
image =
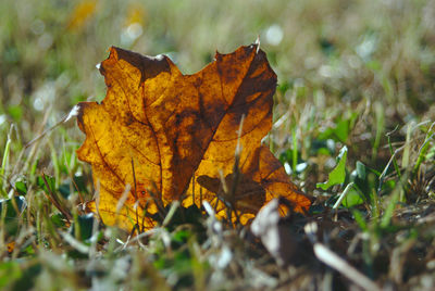
[[[433,1],[78,3],[0,3],[1,289],[355,287],[313,253],[320,242],[380,287],[435,288]],[[78,101],[102,100],[95,65],[107,49],[166,53],[195,73],[257,36],[278,76],[266,142],[315,197],[289,226],[289,266],[198,210],[136,238],[83,214],[94,193],[75,153],[84,136],[74,121],[45,130]],[[312,222],[316,242],[303,232]]]

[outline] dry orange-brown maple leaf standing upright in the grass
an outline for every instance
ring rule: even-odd
[[[100,104],[79,103],[86,140],[77,154],[92,165],[99,197],[90,208],[103,223],[146,229],[156,224],[149,214],[158,212],[157,201],[181,199],[185,206],[207,200],[225,216],[219,179],[231,181],[237,142],[243,177],[233,206],[244,210],[243,223],[278,195],[298,212],[311,204],[261,146],[272,126],[276,75],[258,45],[216,53],[194,75],[183,75],[165,55],[112,47],[100,72],[107,96]]]

